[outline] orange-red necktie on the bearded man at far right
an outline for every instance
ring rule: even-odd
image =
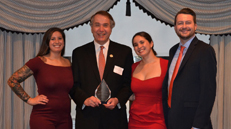
[[[171,108],[173,82],[174,82],[174,79],[175,79],[175,77],[177,75],[177,72],[179,70],[179,67],[180,67],[180,62],[181,62],[181,58],[182,58],[182,55],[183,55],[184,48],[185,48],[184,46],[181,46],[181,48],[180,48],[180,53],[179,53],[179,56],[178,56],[178,59],[177,59],[177,62],[176,62],[176,65],[175,65],[175,68],[174,68],[174,71],[173,71],[173,74],[172,74],[172,78],[171,78],[171,81],[170,81],[170,85],[169,85],[168,106],[170,108]]]

